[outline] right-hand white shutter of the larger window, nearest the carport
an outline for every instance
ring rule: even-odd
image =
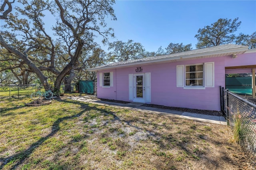
[[[205,87],[214,87],[214,62],[204,63]]]

